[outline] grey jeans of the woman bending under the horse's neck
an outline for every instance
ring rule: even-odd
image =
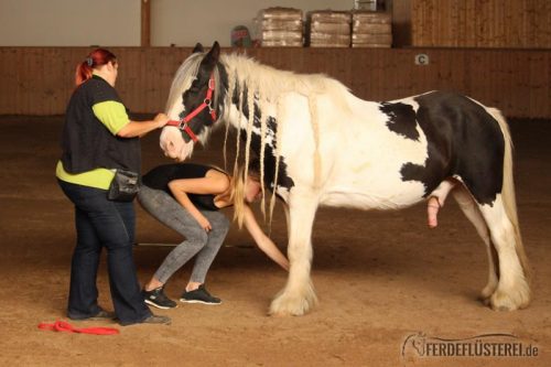
[[[190,280],[204,283],[229,229],[226,216],[220,212],[201,211],[213,227],[206,233],[197,220],[164,191],[141,186],[138,198],[142,207],[153,217],[185,237],[185,240],[166,256],[154,277],[163,284],[166,283],[176,270],[197,255]]]

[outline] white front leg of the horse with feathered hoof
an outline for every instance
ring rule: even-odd
[[[270,305],[272,315],[303,315],[316,303],[314,285],[310,279],[312,265],[312,226],[317,209],[314,194],[293,193],[289,197],[288,214],[290,262],[285,288]]]

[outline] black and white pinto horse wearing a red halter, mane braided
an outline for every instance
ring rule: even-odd
[[[449,192],[487,248],[483,301],[494,310],[529,304],[511,141],[497,109],[445,91],[366,101],[324,75],[220,55],[217,42],[208,53],[197,44],[183,62],[166,109],[174,121],[161,133],[165,155],[186,159],[223,120],[246,141],[246,159],[260,158],[264,185],[283,202],[290,271],[271,314],[302,315],[317,302],[310,272],[320,205],[399,209]]]

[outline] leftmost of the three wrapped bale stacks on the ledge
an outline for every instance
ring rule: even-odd
[[[302,10],[293,8],[268,8],[260,10],[256,19],[262,46],[302,47]]]

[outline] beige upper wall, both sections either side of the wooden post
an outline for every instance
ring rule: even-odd
[[[0,0],[0,46],[139,46],[142,0]],[[354,0],[148,0],[151,45],[230,44],[269,7],[349,10]]]

